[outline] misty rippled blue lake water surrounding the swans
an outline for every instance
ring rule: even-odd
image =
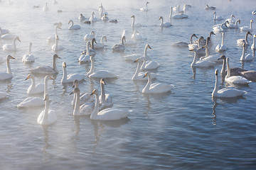
[[[102,2],[109,13],[109,18],[116,18],[119,23],[101,21],[86,25],[78,21],[83,13],[89,17]],[[233,13],[240,18],[241,26],[249,26],[255,1],[196,1],[188,10],[188,19],[171,21],[171,28],[159,27],[159,16],[169,21],[169,6],[183,5],[183,1],[150,2],[149,12],[141,12],[144,1],[58,1],[58,5],[48,1],[47,13],[42,11],[45,2],[14,1],[7,6],[0,2],[1,28],[9,29],[19,36],[18,52],[9,53],[16,60],[11,60],[14,78],[1,82],[1,91],[6,91],[8,98],[0,101],[0,166],[1,169],[255,169],[255,83],[238,86],[247,91],[242,98],[227,101],[213,101],[211,92],[215,83],[214,70],[196,69],[190,65],[193,52],[187,48],[171,46],[171,43],[188,41],[191,34],[208,36],[213,26],[213,11],[205,11],[206,4],[217,7],[217,15],[229,18]],[[33,6],[40,8],[33,8]],[[63,10],[57,13],[57,10]],[[122,30],[132,33],[132,18],[142,23],[139,33],[143,40],[137,45],[126,47],[125,52],[113,53],[112,45],[120,41]],[[68,30],[68,21],[73,19],[81,29]],[[31,81],[24,81],[28,69],[38,65],[51,65],[53,52],[46,38],[54,35],[53,23],[62,22],[58,30],[60,45],[57,61],[59,74],[54,81],[48,82],[50,108],[55,110],[58,121],[42,128],[36,119],[43,108],[18,109],[16,105],[27,97],[26,90]],[[255,24],[253,24],[255,27]],[[97,122],[89,117],[74,118],[73,99],[69,95],[72,86],[63,86],[62,62],[67,63],[68,73],[86,73],[90,65],[79,65],[78,57],[85,49],[83,37],[95,30],[97,41],[107,35],[105,50],[95,56],[96,69],[108,69],[119,75],[119,79],[106,81],[105,91],[114,97],[114,107],[132,110],[128,119],[114,122]],[[255,29],[254,29],[255,31]],[[252,31],[252,33],[254,33]],[[242,48],[236,40],[244,38],[245,32],[228,30],[225,33],[224,52],[230,57],[232,67],[241,67]],[[11,41],[1,40],[4,45]],[[28,51],[29,42],[33,42],[32,53],[36,62],[23,64],[21,58]],[[221,42],[221,35],[213,36],[211,54]],[[252,44],[252,37],[249,37]],[[145,95],[142,89],[146,82],[131,80],[137,64],[125,62],[122,56],[134,53],[143,54],[146,43],[151,45],[149,57],[159,62],[161,67],[156,81],[174,84],[171,93],[164,95]],[[250,48],[247,52],[255,55]],[[0,56],[7,53],[0,50]],[[256,70],[255,60],[245,62],[244,68]],[[6,71],[2,63],[0,72]],[[43,83],[42,77],[37,77]],[[100,89],[99,81],[86,79],[80,84],[80,91],[91,92]],[[213,113],[216,115],[214,118]]]

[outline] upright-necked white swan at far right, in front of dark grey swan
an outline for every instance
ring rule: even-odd
[[[226,62],[227,62],[227,67],[228,67],[228,74],[225,76],[225,81],[227,83],[231,83],[231,84],[249,84],[252,81],[249,81],[247,79],[245,79],[245,77],[241,77],[241,76],[230,76],[230,66],[229,66],[229,58],[226,58]]]

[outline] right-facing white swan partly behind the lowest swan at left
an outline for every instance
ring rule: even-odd
[[[44,79],[44,95],[48,94],[48,80],[52,79],[52,77],[46,75]],[[40,107],[44,105],[44,100],[43,98],[39,97],[28,97],[25,100],[23,100],[21,103],[17,105],[18,108],[31,108],[31,107]]]

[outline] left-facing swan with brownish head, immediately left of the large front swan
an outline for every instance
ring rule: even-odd
[[[73,115],[90,115],[95,108],[94,103],[84,103],[80,105],[80,89],[76,87],[71,93],[74,94],[75,97],[75,107],[73,111]]]

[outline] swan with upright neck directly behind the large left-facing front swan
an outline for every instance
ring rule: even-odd
[[[104,79],[100,79],[100,89],[101,89],[101,94],[100,94],[100,106],[99,110],[102,111],[105,108],[110,108],[113,106],[113,99],[110,94],[105,94],[105,86],[106,83]]]

